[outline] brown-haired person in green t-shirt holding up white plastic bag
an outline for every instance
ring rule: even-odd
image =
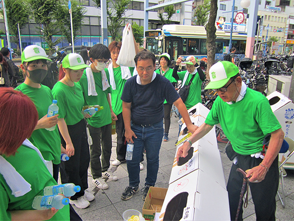
[[[136,54],[138,47],[134,40]],[[124,67],[117,64],[118,56],[120,54],[122,42],[112,41],[108,48],[111,55],[112,62],[108,65],[108,72],[110,78],[110,85],[112,87],[111,93],[111,105],[113,112],[117,115],[118,120],[116,124],[117,134],[117,159],[112,162],[113,166],[119,166],[122,162],[125,162],[126,143],[124,138],[124,123],[123,123],[123,101],[121,99],[123,93],[123,87],[127,79],[133,76],[134,67]],[[142,163],[140,163],[140,169],[144,169]]]

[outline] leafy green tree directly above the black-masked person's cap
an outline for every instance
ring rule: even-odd
[[[60,43],[61,38],[54,35],[60,34],[60,21],[58,21],[58,8],[60,1],[56,0],[30,0],[32,16],[35,22],[40,25],[37,29],[41,33],[41,38],[48,44],[49,54],[55,51],[55,46]]]

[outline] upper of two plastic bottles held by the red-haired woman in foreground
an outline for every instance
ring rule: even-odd
[[[61,193],[64,194],[66,197],[69,197],[73,196],[77,192],[80,192],[80,190],[80,186],[75,186],[73,183],[66,183],[61,185],[45,187],[44,195],[57,195],[58,193]]]

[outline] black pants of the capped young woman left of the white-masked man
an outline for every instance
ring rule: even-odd
[[[84,119],[74,125],[68,125],[69,135],[73,142],[74,155],[68,161],[61,161],[60,177],[62,183],[73,183],[81,187],[81,191],[75,193],[71,199],[75,200],[84,195],[88,189],[88,167],[90,162],[90,150],[87,141],[86,123]],[[66,143],[61,137],[61,144]]]

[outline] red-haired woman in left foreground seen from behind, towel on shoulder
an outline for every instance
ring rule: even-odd
[[[34,103],[20,91],[0,88],[0,220],[70,220],[69,206],[33,210],[34,197],[57,185],[29,138],[38,122]]]

